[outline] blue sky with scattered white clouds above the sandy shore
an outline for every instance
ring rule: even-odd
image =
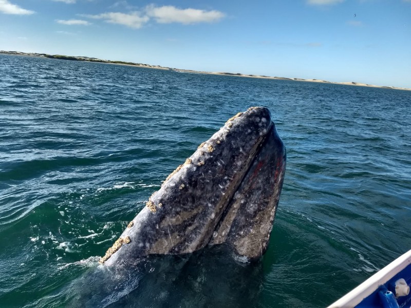
[[[0,0],[0,50],[411,88],[411,0]]]

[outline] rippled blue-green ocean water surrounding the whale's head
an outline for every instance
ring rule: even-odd
[[[271,110],[267,253],[99,257],[198,144]],[[0,55],[0,306],[323,307],[411,249],[411,91]]]

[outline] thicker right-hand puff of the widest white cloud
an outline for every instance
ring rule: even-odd
[[[204,11],[197,9],[179,9],[174,6],[156,7],[149,5],[145,8],[148,16],[160,24],[180,23],[184,25],[195,23],[212,23],[225,16],[219,11]]]

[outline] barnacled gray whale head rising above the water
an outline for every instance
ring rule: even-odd
[[[105,264],[224,242],[258,258],[267,247],[285,159],[267,108],[237,114],[164,181],[121,235],[129,243]]]

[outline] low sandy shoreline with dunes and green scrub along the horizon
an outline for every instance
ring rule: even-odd
[[[223,76],[237,76],[237,77],[245,77],[245,78],[289,80],[289,81],[301,81],[301,82],[316,82],[316,83],[328,83],[328,84],[337,84],[337,85],[350,85],[350,86],[360,86],[360,87],[372,87],[372,88],[383,88],[383,89],[395,89],[395,90],[408,90],[408,91],[411,91],[411,88],[376,86],[376,85],[369,85],[369,84],[358,83],[358,82],[330,82],[330,81],[319,80],[319,79],[286,78],[286,77],[272,77],[272,76],[265,76],[265,75],[247,75],[247,74],[241,74],[241,73],[195,71],[195,70],[190,70],[190,69],[178,69],[178,68],[163,67],[163,66],[159,66],[159,65],[149,65],[149,64],[134,63],[134,62],[101,60],[101,59],[98,59],[98,58],[95,58],[95,57],[87,57],[87,56],[68,56],[68,55],[61,55],[61,54],[47,54],[47,53],[34,53],[34,52],[21,52],[21,51],[4,51],[4,50],[0,50],[0,54],[47,57],[49,59],[68,60],[68,61],[99,62],[99,63],[107,63],[107,64],[127,65],[127,66],[143,67],[143,68],[171,70],[171,71],[175,71],[175,72],[179,72],[179,73],[210,74],[210,75],[223,75]]]

